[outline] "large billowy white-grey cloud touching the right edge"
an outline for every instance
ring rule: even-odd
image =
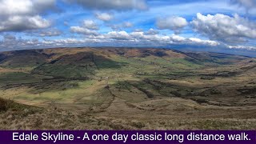
[[[191,22],[194,30],[211,39],[222,42],[245,42],[248,38],[256,38],[256,23],[234,14],[197,14]]]

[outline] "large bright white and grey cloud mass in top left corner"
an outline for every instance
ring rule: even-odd
[[[39,14],[55,8],[55,0],[0,0],[0,32],[42,29],[50,21]]]

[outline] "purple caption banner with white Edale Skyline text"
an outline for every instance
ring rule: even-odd
[[[0,131],[1,143],[255,143],[254,130]]]

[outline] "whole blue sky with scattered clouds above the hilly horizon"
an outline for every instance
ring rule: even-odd
[[[256,56],[256,0],[0,0],[0,51],[78,46]]]

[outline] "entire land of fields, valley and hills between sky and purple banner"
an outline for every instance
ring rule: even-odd
[[[256,59],[150,48],[0,53],[2,130],[255,130]]]

